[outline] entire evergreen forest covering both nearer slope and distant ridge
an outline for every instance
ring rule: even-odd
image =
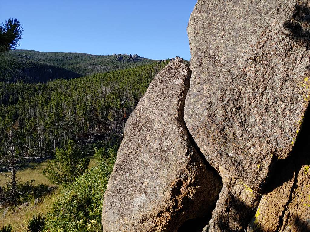
[[[16,63],[6,67],[10,62]],[[167,62],[29,50],[5,54],[0,58],[1,156],[7,154],[11,127],[20,157],[52,156],[69,140],[80,146],[120,140],[126,119]]]

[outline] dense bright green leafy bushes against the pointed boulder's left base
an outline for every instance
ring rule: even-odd
[[[115,149],[113,152],[111,149],[110,155],[100,159],[97,166],[72,184],[63,184],[63,196],[55,201],[47,214],[47,228],[51,232],[102,231],[103,196],[116,159]]]

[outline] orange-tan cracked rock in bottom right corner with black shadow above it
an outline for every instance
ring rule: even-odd
[[[310,118],[289,158],[277,161],[248,232],[310,231]]]

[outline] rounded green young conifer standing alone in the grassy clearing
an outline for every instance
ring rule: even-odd
[[[75,148],[75,144],[70,140],[68,149],[56,148],[56,160],[49,161],[43,174],[54,184],[72,183],[87,170],[88,164],[89,159],[82,158],[81,151]]]

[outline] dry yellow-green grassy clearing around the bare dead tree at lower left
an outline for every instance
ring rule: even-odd
[[[97,165],[97,160],[93,156],[88,158],[90,159],[88,168],[91,169]],[[16,178],[19,179],[17,190],[22,194],[19,195],[16,206],[13,205],[5,217],[0,218],[0,227],[1,225],[11,224],[15,230],[24,231],[28,220],[34,213],[47,213],[50,205],[60,197],[60,189],[55,188],[55,185],[48,181],[42,173],[47,167],[48,161],[29,163],[17,172]],[[7,182],[5,175],[0,174],[0,183],[5,191],[4,195],[8,197],[11,187],[8,184],[4,184]],[[37,198],[38,203],[34,204]],[[20,205],[25,202],[28,202],[29,205],[20,208]],[[0,217],[5,208],[0,208]]]

